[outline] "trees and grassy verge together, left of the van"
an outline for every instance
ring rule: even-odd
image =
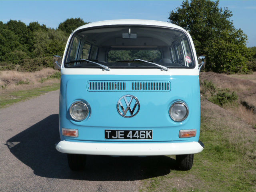
[[[38,22],[0,21],[0,108],[58,89],[53,56],[63,55],[71,31],[84,24],[70,18],[52,29]]]

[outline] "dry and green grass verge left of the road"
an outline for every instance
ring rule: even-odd
[[[0,108],[57,90],[60,72],[44,68],[36,72],[0,72]]]

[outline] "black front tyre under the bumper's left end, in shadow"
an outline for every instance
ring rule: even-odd
[[[72,171],[84,170],[86,155],[68,154],[68,166]]]

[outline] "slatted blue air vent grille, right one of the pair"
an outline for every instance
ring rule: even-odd
[[[143,82],[132,82],[132,91],[170,91],[170,82],[154,82],[154,81],[143,81]]]

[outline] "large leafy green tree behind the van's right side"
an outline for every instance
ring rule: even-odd
[[[247,36],[236,29],[228,8],[219,8],[219,1],[185,0],[181,8],[169,13],[169,21],[188,30],[198,55],[205,55],[207,70],[215,72],[247,72],[250,53]]]

